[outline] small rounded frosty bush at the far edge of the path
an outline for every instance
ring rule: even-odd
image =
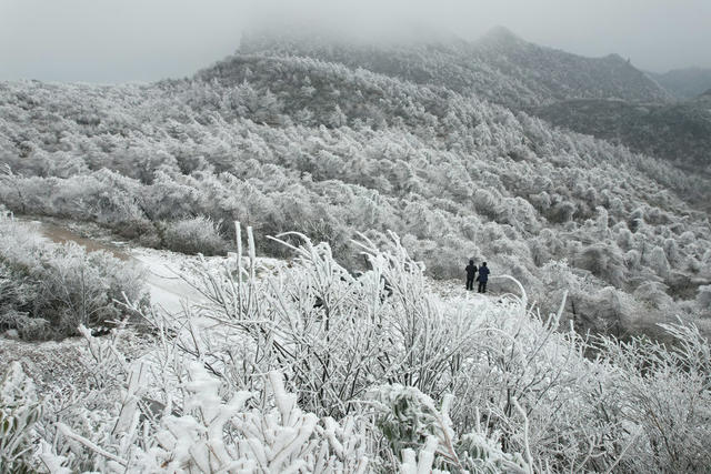
[[[227,251],[219,224],[204,215],[166,223],[163,244],[172,251],[190,254],[219,255]]]

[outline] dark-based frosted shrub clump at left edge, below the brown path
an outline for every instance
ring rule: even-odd
[[[144,302],[142,270],[107,252],[54,244],[0,218],[0,324],[27,339],[74,335],[80,324],[121,319],[121,303]]]

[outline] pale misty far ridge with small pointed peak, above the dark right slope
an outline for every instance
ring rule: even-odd
[[[615,54],[584,58],[527,42],[495,28],[474,42],[444,38],[422,43],[339,42],[290,33],[286,39],[252,34],[240,52],[301,56],[349,68],[477,94],[514,110],[567,99],[664,102],[671,94]]]

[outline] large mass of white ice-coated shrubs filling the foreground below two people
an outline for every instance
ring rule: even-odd
[[[519,285],[498,300],[443,299],[394,236],[387,251],[360,240],[370,270],[354,278],[328,245],[294,235],[302,244],[291,246],[291,266],[257,278],[251,232],[244,265],[237,230],[233,260],[198,261],[186,273],[207,301],[169,317],[143,313],[156,340],[133,362],[117,343],[130,329],[101,339],[83,331],[82,363],[96,375],[81,396],[59,392],[46,404],[36,446],[44,466],[644,473],[709,465],[710,346],[695,327],[662,327],[675,340],[669,346],[641,337],[592,344],[561,331],[564,291],[548,315]],[[551,283],[572,279],[577,293],[589,291],[564,262],[544,270]],[[611,288],[593,296],[578,296],[579,314],[634,310]]]

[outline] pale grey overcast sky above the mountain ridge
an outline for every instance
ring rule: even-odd
[[[0,0],[0,80],[186,77],[232,53],[246,27],[291,20],[465,39],[500,24],[645,70],[711,68],[711,0]]]

